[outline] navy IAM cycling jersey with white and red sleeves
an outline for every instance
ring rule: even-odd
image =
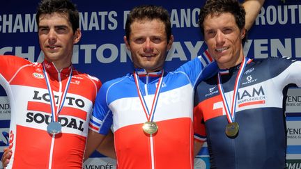
[[[240,66],[220,70],[229,108]],[[285,168],[284,96],[291,84],[301,86],[301,62],[267,58],[247,63],[240,80],[234,121],[238,135],[225,134],[226,118],[217,75],[202,81],[194,98],[194,138],[207,140],[211,168]]]

